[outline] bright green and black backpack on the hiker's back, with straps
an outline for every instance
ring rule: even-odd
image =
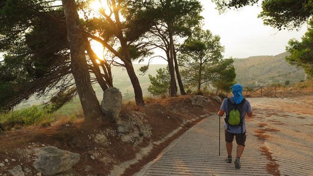
[[[242,125],[242,119],[240,118],[240,114],[242,113],[243,105],[246,99],[243,99],[240,104],[233,104],[230,102],[229,98],[227,98],[227,112],[225,122],[229,125]]]

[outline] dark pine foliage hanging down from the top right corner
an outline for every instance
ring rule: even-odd
[[[220,12],[227,8],[241,8],[262,2],[264,24],[278,29],[294,29],[307,22],[313,15],[313,0],[213,0]]]

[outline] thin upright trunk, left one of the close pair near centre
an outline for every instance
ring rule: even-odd
[[[168,59],[168,68],[170,71],[171,75],[171,97],[176,97],[177,96],[177,91],[176,91],[176,79],[175,79],[175,68],[174,68],[174,63],[173,63],[173,33],[172,33],[172,23],[168,22],[168,30],[169,30],[169,37],[170,37],[170,58]]]

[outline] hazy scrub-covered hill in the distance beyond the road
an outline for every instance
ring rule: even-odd
[[[234,59],[236,81],[244,86],[265,86],[272,83],[284,85],[285,81],[291,83],[304,79],[304,70],[291,66],[284,52],[276,56],[252,56],[246,59]]]

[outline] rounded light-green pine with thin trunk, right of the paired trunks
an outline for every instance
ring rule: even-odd
[[[188,38],[179,54],[182,76],[189,87],[201,89],[201,85],[213,81],[212,66],[223,58],[224,46],[220,37],[209,30],[197,28]]]

